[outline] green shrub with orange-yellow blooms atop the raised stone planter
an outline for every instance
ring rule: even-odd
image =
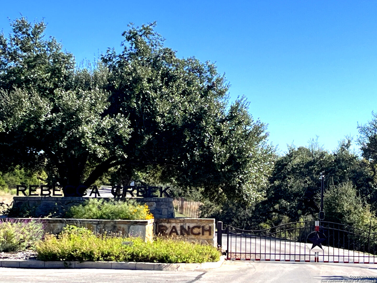
[[[72,206],[67,211],[68,218],[108,219],[108,220],[146,220],[152,219],[147,205],[140,205],[135,200],[103,200],[91,198],[83,205]]]

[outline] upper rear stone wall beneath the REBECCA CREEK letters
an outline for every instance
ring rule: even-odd
[[[14,197],[13,211],[26,209],[33,217],[54,215],[61,217],[71,206],[80,205],[89,197]],[[109,200],[110,198],[104,198]],[[146,203],[155,218],[174,218],[172,198],[133,198],[140,203]]]

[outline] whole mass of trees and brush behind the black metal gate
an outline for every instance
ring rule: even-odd
[[[228,202],[213,216],[247,229],[316,220],[319,175],[324,171],[325,220],[369,229],[371,222],[376,223],[376,179],[370,162],[358,157],[350,146],[351,140],[343,140],[333,153],[314,140],[308,147],[291,146],[277,159],[263,201],[247,207]]]

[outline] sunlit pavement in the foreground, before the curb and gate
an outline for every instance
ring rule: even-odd
[[[377,280],[377,266],[372,264],[225,261],[221,268],[197,271],[0,268],[0,282],[2,283],[319,283],[321,280],[351,280],[352,276],[361,277],[358,280]]]

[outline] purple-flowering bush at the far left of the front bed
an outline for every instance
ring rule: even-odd
[[[43,236],[43,225],[37,221],[0,222],[0,251],[23,251],[34,248]]]

